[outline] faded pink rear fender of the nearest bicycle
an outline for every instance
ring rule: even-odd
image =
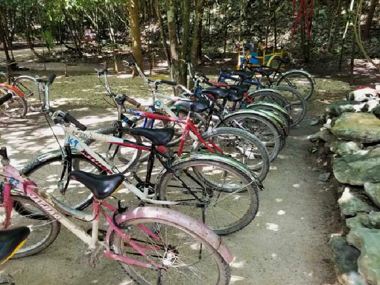
[[[122,214],[119,214],[116,217],[116,222],[121,224],[128,220],[136,218],[150,218],[156,221],[168,221],[174,224],[180,225],[185,229],[191,229],[194,233],[203,237],[209,245],[218,252],[227,263],[233,261],[233,256],[225,245],[224,241],[220,236],[214,233],[209,227],[203,224],[201,221],[197,221],[192,217],[184,215],[180,212],[174,211],[168,208],[162,207],[139,207],[134,208],[129,211],[126,211]],[[107,230],[106,235],[106,249],[109,250],[110,247],[110,237],[113,228],[110,226]]]

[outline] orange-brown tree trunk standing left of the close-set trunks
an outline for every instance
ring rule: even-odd
[[[130,0],[129,2],[129,20],[132,33],[132,54],[136,59],[137,65],[142,71],[144,71],[142,67],[140,20],[137,1],[138,0]]]

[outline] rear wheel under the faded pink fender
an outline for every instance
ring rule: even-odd
[[[134,225],[136,226],[134,227]],[[149,249],[144,249],[145,253],[150,257],[150,259],[157,260],[157,262],[160,262],[160,263],[164,263],[165,261],[167,261],[168,269],[166,272],[164,272],[165,282],[161,280],[163,281],[163,283],[160,283],[160,284],[179,284],[179,283],[183,285],[186,285],[186,284],[188,285],[190,284],[192,285],[193,284],[194,285],[196,284],[227,285],[229,284],[230,277],[231,277],[231,269],[230,269],[229,264],[227,264],[225,260],[221,257],[221,255],[209,245],[209,242],[207,241],[207,239],[205,239],[204,237],[202,237],[201,235],[199,235],[192,229],[184,228],[183,226],[173,221],[164,220],[163,218],[158,219],[158,218],[145,218],[145,217],[127,220],[121,223],[119,226],[122,229],[127,229],[126,235],[131,236],[133,240],[138,240],[139,244],[143,243],[142,238],[148,238],[148,240],[146,241],[147,244],[150,245],[150,247],[152,245],[156,246],[156,249],[151,250],[151,251],[149,251]],[[141,226],[147,229],[151,229],[156,235],[159,236],[160,241],[157,241],[156,239],[148,237],[146,233],[142,233],[142,237],[138,236],[137,235],[138,232],[142,232]],[[178,230],[178,234],[172,234],[170,228],[168,230],[168,227],[172,227]],[[136,229],[136,233],[135,233],[135,229]],[[174,239],[181,239],[181,241],[185,238],[186,235],[188,235],[189,237],[191,237],[191,242],[190,241],[187,241],[187,242],[175,241],[175,242],[169,243],[167,246],[166,245],[162,246],[161,243],[164,244],[164,242],[162,242],[161,240],[164,239],[163,238],[164,234],[161,234],[161,232],[165,232],[165,237],[170,236]],[[168,232],[169,234],[167,234]],[[113,240],[113,251],[118,255],[124,255],[123,248],[125,247],[125,243],[127,243],[127,241],[124,242],[122,236],[120,234],[117,234],[115,231],[112,232],[111,239]],[[200,256],[195,256],[194,245],[199,245],[199,244],[202,245],[203,259],[207,257],[207,256],[205,257],[206,255],[205,253],[209,253],[209,257],[211,257],[212,261],[215,261],[216,266],[212,266],[214,262],[210,262],[209,259],[203,261],[200,259]],[[178,247],[178,249],[176,247]],[[168,249],[170,249],[170,252],[171,252],[169,254],[173,255],[172,258],[168,257],[169,256]],[[183,262],[183,260],[185,260],[184,258],[185,255],[183,254],[183,252],[185,252],[186,250],[188,250],[191,254],[194,255],[194,261],[189,263],[189,265],[192,268],[188,270],[189,272],[187,274],[182,273],[182,270],[186,269],[185,267],[187,264],[187,262]],[[131,252],[131,251],[133,251],[133,248],[128,247],[128,252]],[[153,252],[154,254],[151,255],[150,252]],[[133,256],[134,256],[134,259],[140,258],[141,261],[146,262],[145,257],[141,256],[138,252],[136,252],[136,254],[134,254]],[[175,256],[175,259],[174,259],[174,256]],[[171,260],[174,260],[175,262],[171,262]],[[176,262],[180,263],[180,265],[178,265],[177,267],[176,267]],[[141,285],[157,284],[158,277],[153,276],[153,278],[150,278],[150,280],[147,280],[148,278],[146,275],[148,273],[153,273],[153,274],[156,273],[160,275],[162,274],[158,270],[156,271],[156,270],[152,270],[148,268],[143,268],[140,266],[134,267],[133,265],[122,263],[122,262],[120,262],[120,265],[122,266],[124,271],[136,283],[141,284]],[[201,266],[200,269],[202,269],[203,271],[207,270],[208,274],[201,274],[199,270],[193,269],[193,267],[195,268],[197,266]],[[171,269],[172,267],[175,269],[172,270]],[[137,270],[142,271],[145,274],[138,273]],[[194,273],[193,270],[197,271],[198,274]],[[172,276],[169,276],[169,273],[173,273],[177,275],[172,277]],[[202,276],[208,279],[212,278],[211,275],[215,275],[217,280],[216,282],[212,282],[212,283],[210,280],[199,280],[201,278],[199,274],[201,274]]]

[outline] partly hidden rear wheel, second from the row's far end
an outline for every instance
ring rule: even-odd
[[[292,126],[298,125],[305,117],[308,107],[306,100],[302,97],[298,90],[289,86],[275,86],[273,89],[281,92],[281,95],[290,103],[290,115],[292,117]]]

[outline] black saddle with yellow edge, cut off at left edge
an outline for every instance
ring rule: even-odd
[[[10,259],[22,247],[29,233],[28,227],[0,231],[0,264]]]

